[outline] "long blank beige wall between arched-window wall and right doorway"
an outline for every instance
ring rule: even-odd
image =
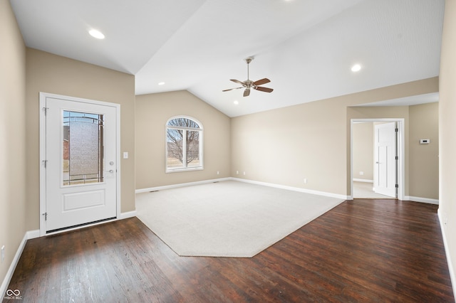
[[[345,120],[333,100],[235,117],[232,176],[345,194]]]

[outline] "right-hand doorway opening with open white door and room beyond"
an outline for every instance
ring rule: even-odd
[[[404,125],[404,119],[351,119],[351,198],[404,199]]]

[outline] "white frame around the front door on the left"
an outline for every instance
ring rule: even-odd
[[[40,92],[39,94],[39,111],[40,111],[40,118],[39,118],[39,166],[40,166],[40,236],[43,235],[53,235],[56,233],[62,233],[66,232],[69,230],[75,230],[81,227],[76,227],[76,228],[68,228],[65,230],[60,230],[55,233],[46,233],[46,220],[45,216],[43,215],[46,213],[46,169],[45,169],[45,160],[46,160],[46,98],[51,97],[55,99],[63,99],[63,100],[70,100],[74,102],[84,102],[84,103],[90,103],[90,104],[95,104],[95,105],[105,105],[105,106],[110,106],[110,107],[115,107],[116,108],[116,115],[115,119],[117,119],[117,129],[115,129],[116,132],[116,143],[115,143],[115,149],[116,149],[116,164],[115,164],[115,169],[117,169],[117,179],[116,179],[116,212],[117,212],[117,218],[120,216],[120,104],[117,103],[110,103],[110,102],[103,102],[103,101],[97,101],[97,100],[89,100],[89,99],[83,99],[79,97],[70,97],[70,96],[65,96],[65,95],[56,95],[56,94],[51,94],[48,92]],[[115,220],[115,219],[113,219]],[[104,221],[105,223],[107,221]],[[91,225],[97,225],[100,223],[92,223],[92,224],[87,224],[84,225],[86,226],[91,226]]]

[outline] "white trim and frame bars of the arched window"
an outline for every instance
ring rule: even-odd
[[[173,119],[190,119],[192,122],[195,122],[198,127],[185,127],[185,126],[175,126],[175,125],[169,125],[170,121]],[[185,140],[182,140],[182,166],[170,166],[168,164],[168,148],[169,148],[169,139],[168,139],[168,129],[181,129],[184,134],[182,134],[183,138],[186,138]],[[199,144],[198,144],[198,151],[199,151],[199,164],[198,165],[192,165],[189,166],[187,164],[187,131],[197,131],[199,132]],[[178,172],[178,171],[195,171],[195,170],[202,170],[203,169],[203,126],[202,123],[199,122],[197,119],[194,117],[190,116],[185,116],[185,115],[178,115],[174,117],[170,117],[170,119],[167,119],[167,122],[165,124],[165,169],[167,173],[172,173],[172,172]]]

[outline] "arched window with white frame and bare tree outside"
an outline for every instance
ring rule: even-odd
[[[166,172],[203,169],[202,124],[192,117],[166,122]]]

